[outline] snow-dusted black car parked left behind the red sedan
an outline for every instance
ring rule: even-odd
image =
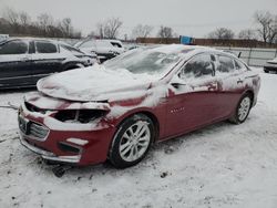
[[[34,86],[54,72],[92,65],[96,55],[62,42],[10,39],[0,43],[0,89]]]

